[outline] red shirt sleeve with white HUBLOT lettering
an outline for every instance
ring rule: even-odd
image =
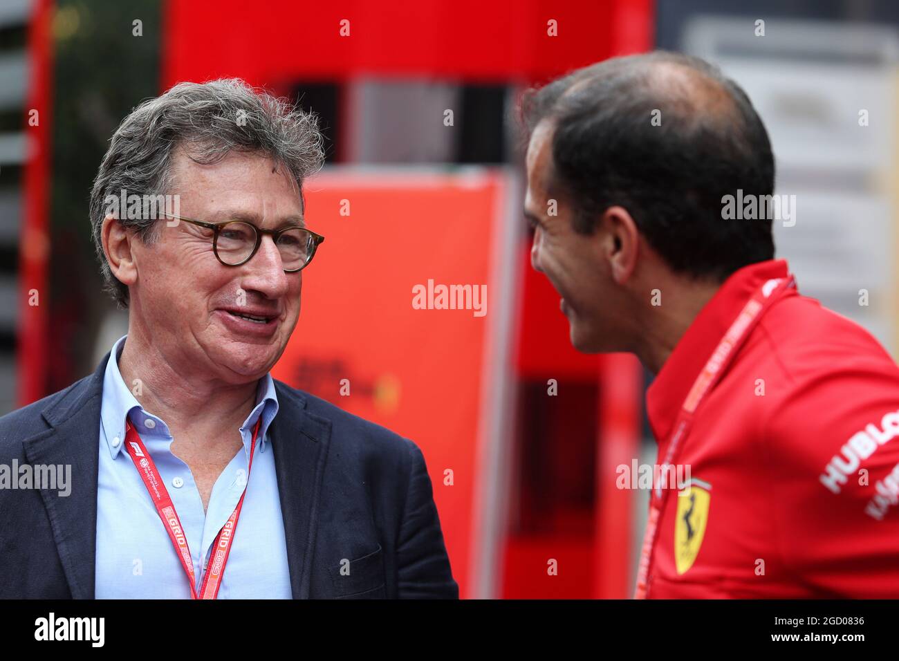
[[[899,370],[885,354],[816,363],[764,426],[774,561],[816,596],[899,597]]]

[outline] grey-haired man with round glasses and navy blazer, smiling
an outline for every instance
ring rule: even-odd
[[[66,496],[0,490],[0,597],[458,597],[422,451],[271,378],[322,160],[313,115],[239,80],[121,123],[91,219],[129,332],[0,418],[0,462],[72,466]],[[132,218],[120,192],[176,203]]]

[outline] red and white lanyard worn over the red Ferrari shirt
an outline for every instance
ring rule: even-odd
[[[699,407],[699,402],[708,392],[715,387],[721,375],[734,360],[734,356],[743,346],[743,342],[752,332],[752,329],[761,320],[761,316],[768,311],[774,301],[780,299],[788,290],[796,288],[793,276],[777,278],[765,282],[755,292],[752,299],[743,306],[740,314],[734,319],[734,323],[727,329],[724,337],[718,343],[706,366],[699,372],[699,376],[693,382],[690,392],[683,400],[681,413],[673,426],[672,439],[668,443],[668,451],[665,452],[663,467],[669,466],[674,460],[674,453],[681,446],[684,439],[690,433],[693,422],[693,413]],[[659,519],[664,511],[664,505],[668,499],[670,488],[656,486],[651,496],[652,507],[649,510],[649,519],[646,521],[646,531],[643,537],[643,548],[640,552],[640,564],[636,574],[635,599],[645,599],[646,579],[649,576],[649,567],[655,549],[655,540],[659,531]]]

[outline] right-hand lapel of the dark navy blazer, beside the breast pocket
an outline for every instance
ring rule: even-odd
[[[269,427],[294,599],[308,599],[316,544],[318,499],[331,440],[331,421],[308,413],[306,398],[275,380],[278,415]]]

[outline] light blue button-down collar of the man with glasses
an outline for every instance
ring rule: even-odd
[[[147,413],[143,406],[140,406],[137,397],[129,390],[125,380],[122,379],[119,371],[119,357],[121,350],[125,346],[125,339],[128,335],[122,335],[119,340],[112,345],[110,360],[106,363],[106,371],[103,374],[103,394],[100,411],[100,420],[103,427],[103,436],[106,439],[106,445],[110,451],[112,459],[119,456],[119,452],[125,442],[125,419],[129,417],[132,424],[138,426],[141,436],[145,433],[168,435],[168,427],[161,418]],[[266,373],[259,380],[256,387],[256,406],[247,415],[244,424],[241,425],[241,435],[245,429],[249,433],[245,435],[244,445],[246,451],[249,452],[249,442],[253,438],[253,429],[256,421],[262,415],[263,422],[259,425],[259,435],[262,436],[259,451],[265,451],[267,445],[266,433],[268,432],[271,421],[278,414],[279,404],[278,395],[275,393],[275,383],[271,378],[271,373]],[[151,420],[153,425],[152,431],[147,428],[146,421]]]

